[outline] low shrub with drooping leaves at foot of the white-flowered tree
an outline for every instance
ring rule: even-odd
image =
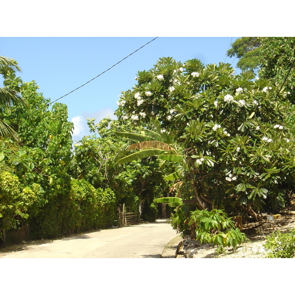
[[[196,240],[217,245],[217,254],[224,247],[236,248],[247,238],[235,227],[234,221],[221,209],[196,210],[191,212],[188,226],[195,228]]]

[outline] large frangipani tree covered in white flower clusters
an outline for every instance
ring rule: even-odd
[[[187,165],[183,199],[201,209],[258,211],[284,206],[283,186],[294,186],[294,116],[287,92],[251,72],[235,75],[230,64],[205,66],[159,59],[138,72],[122,92],[116,115],[134,125],[157,119],[183,149]]]

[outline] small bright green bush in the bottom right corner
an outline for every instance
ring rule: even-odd
[[[295,257],[295,229],[290,233],[277,231],[266,237],[263,244],[266,258],[294,258]]]

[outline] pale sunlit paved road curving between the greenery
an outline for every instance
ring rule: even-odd
[[[32,241],[0,249],[0,258],[161,258],[177,233],[159,219],[123,228],[85,233],[56,240]]]

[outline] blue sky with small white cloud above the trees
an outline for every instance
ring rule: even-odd
[[[34,80],[43,96],[54,101],[82,86],[139,49],[154,37],[0,37],[0,55],[18,61],[24,82]],[[59,99],[75,123],[73,139],[89,134],[87,118],[113,117],[118,95],[136,83],[138,71],[148,70],[162,57],[184,62],[229,62],[237,37],[158,37],[118,65]]]

